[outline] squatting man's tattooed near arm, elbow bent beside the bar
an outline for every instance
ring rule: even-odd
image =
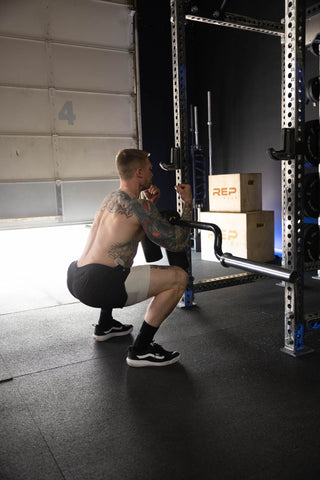
[[[151,202],[134,200],[132,211],[153,243],[171,252],[180,252],[186,247],[189,239],[189,228],[171,225]],[[189,213],[187,212],[186,215],[188,216]],[[187,220],[186,217],[184,219]]]

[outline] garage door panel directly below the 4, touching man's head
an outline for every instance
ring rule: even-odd
[[[59,137],[59,177],[112,178],[117,177],[115,156],[120,148],[136,148],[130,138],[65,138]]]

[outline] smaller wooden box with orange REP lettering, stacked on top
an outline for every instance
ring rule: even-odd
[[[211,212],[253,212],[261,209],[261,173],[209,175]]]

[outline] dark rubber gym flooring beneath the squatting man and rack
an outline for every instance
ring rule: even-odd
[[[66,228],[82,240],[83,227]],[[319,333],[306,335],[312,354],[280,351],[281,286],[265,279],[197,294],[156,336],[180,362],[130,368],[132,337],[92,340],[97,311],[65,290],[74,244],[61,227],[48,230],[44,252],[44,230],[29,233],[34,250],[1,232],[14,252],[1,256],[1,375],[13,377],[0,383],[1,480],[320,478]],[[196,279],[235,273],[192,255]],[[319,309],[319,287],[306,275],[308,312]],[[135,335],[146,304],[115,318]]]

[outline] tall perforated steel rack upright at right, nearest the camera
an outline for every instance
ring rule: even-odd
[[[283,351],[299,356],[304,346],[303,177],[305,111],[305,0],[285,0],[285,38],[282,68],[282,128],[290,132],[292,155],[282,160],[282,264],[299,273],[285,283]]]

